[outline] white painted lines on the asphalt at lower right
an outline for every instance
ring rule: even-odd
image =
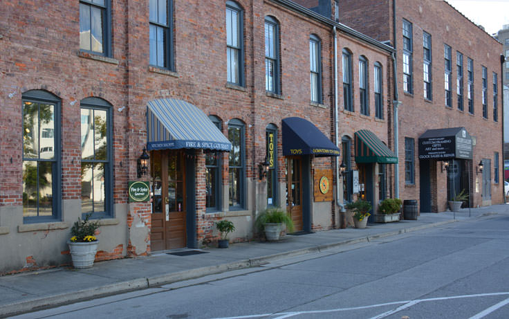
[[[259,318],[259,317],[267,317],[267,316],[277,316],[273,319],[284,319],[284,318],[290,318],[293,316],[299,316],[299,315],[304,315],[304,314],[351,311],[351,310],[370,309],[370,308],[378,308],[378,307],[384,307],[384,306],[392,306],[395,304],[402,304],[400,307],[398,307],[394,310],[387,311],[385,313],[380,313],[378,316],[374,316],[371,318],[371,319],[381,319],[381,318],[390,316],[391,314],[397,313],[398,311],[401,311],[403,309],[412,307],[415,304],[418,304],[419,302],[452,300],[452,299],[462,299],[462,298],[489,297],[492,295],[509,295],[509,292],[476,293],[474,295],[452,295],[449,297],[437,297],[437,298],[426,298],[426,299],[416,299],[416,300],[402,300],[402,301],[396,301],[396,302],[387,302],[387,303],[383,303],[383,304],[371,304],[368,306],[360,306],[360,307],[337,308],[337,309],[328,309],[328,310],[292,311],[292,312],[279,312],[279,313],[258,313],[258,314],[247,315],[247,316],[219,317],[219,318],[213,318],[213,319],[244,319],[244,318]],[[506,300],[503,300],[502,302],[499,302],[498,304],[495,304],[494,306],[486,309],[485,311],[483,311],[481,313],[478,313],[476,316],[474,316],[470,319],[481,319],[484,316],[486,316],[488,313],[491,313],[492,311],[495,311],[495,310],[505,306],[506,304],[509,304],[509,298]],[[489,312],[487,312],[487,311],[489,311]]]

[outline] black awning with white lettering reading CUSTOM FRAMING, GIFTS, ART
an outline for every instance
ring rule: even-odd
[[[428,129],[419,137],[419,159],[472,159],[472,146],[465,127]]]

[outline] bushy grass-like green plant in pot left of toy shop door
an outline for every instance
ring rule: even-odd
[[[269,208],[262,212],[256,221],[257,228],[265,233],[268,241],[279,240],[283,224],[286,230],[293,231],[293,221],[281,208]]]

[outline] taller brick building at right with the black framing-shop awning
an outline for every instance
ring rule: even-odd
[[[502,203],[501,44],[445,1],[333,2],[343,24],[396,47],[396,196],[422,212],[462,190],[471,206]]]

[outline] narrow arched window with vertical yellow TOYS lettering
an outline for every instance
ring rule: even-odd
[[[277,207],[277,127],[269,124],[266,129],[266,159],[268,161],[267,171],[267,206]]]

